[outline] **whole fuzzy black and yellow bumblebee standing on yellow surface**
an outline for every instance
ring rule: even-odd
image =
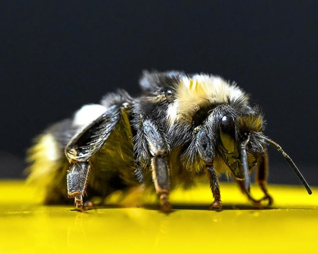
[[[266,188],[267,145],[276,148],[301,182],[311,189],[282,148],[263,133],[258,106],[235,83],[219,76],[144,71],[142,94],[108,93],[39,135],[28,152],[29,180],[41,185],[45,204],[69,203],[85,210],[83,197],[148,186],[161,208],[170,210],[169,192],[207,175],[213,202],[222,209],[218,175],[234,178],[255,205],[270,206]],[[250,195],[250,174],[264,197]],[[68,198],[67,198],[68,197]]]

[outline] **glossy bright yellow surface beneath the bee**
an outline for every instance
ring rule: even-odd
[[[274,209],[252,209],[235,185],[223,183],[220,212],[206,209],[211,193],[200,185],[172,193],[169,214],[110,207],[81,213],[40,205],[23,182],[0,181],[0,253],[318,253],[318,188],[311,196],[302,187],[269,190]]]

